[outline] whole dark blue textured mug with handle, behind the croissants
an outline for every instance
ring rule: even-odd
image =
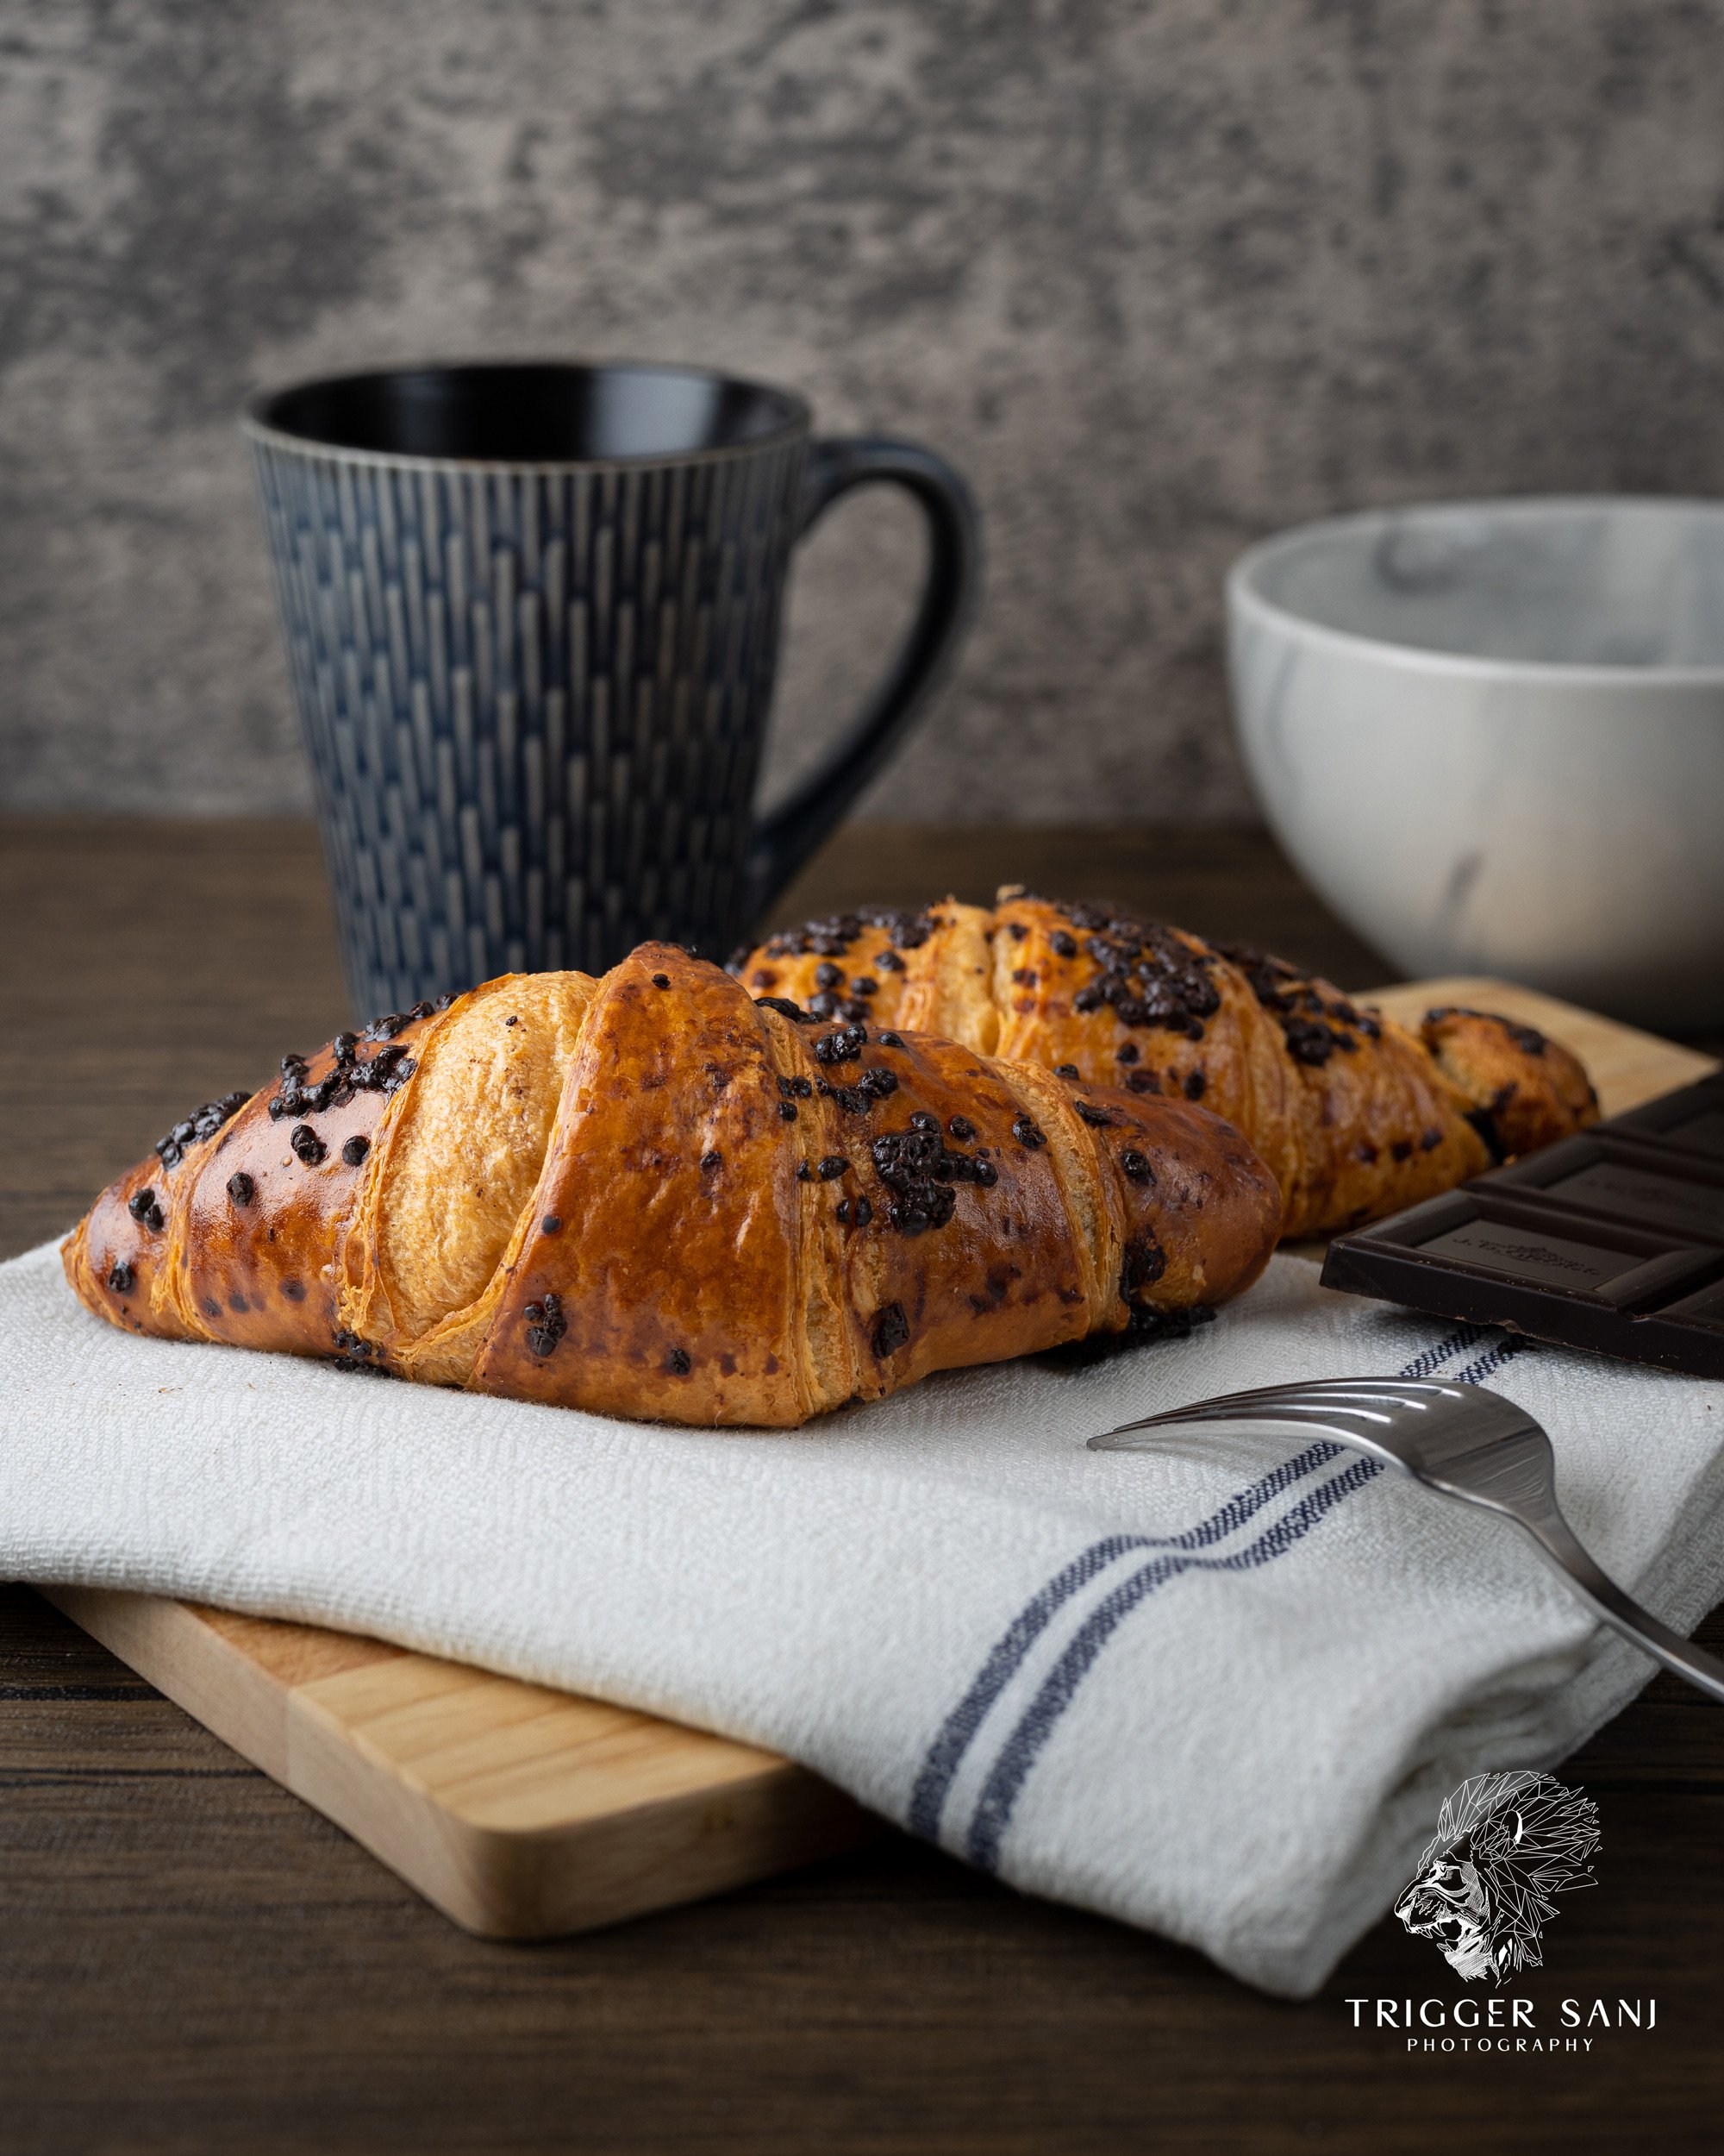
[[[343,375],[246,414],[360,1015],[498,972],[722,955],[927,707],[981,543],[933,451],[812,440],[787,390],[694,367]],[[853,731],[754,785],[795,541],[892,481],[922,599]]]

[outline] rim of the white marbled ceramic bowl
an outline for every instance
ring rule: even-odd
[[[1310,642],[1351,653],[1371,653],[1392,666],[1420,673],[1446,673],[1470,681],[1565,681],[1595,683],[1621,690],[1627,683],[1640,688],[1724,688],[1724,662],[1713,666],[1629,666],[1575,660],[1493,660],[1465,651],[1433,651],[1429,645],[1394,642],[1388,636],[1366,636],[1360,630],[1336,630],[1325,621],[1293,612],[1276,599],[1263,595],[1252,582],[1254,576],[1276,556],[1293,552],[1319,533],[1338,533],[1360,526],[1384,526],[1401,520],[1483,515],[1524,517],[1554,509],[1687,509],[1705,511],[1724,520],[1724,500],[1700,494],[1491,494],[1461,496],[1435,502],[1386,502],[1379,509],[1353,509],[1336,517],[1312,517],[1269,533],[1248,545],[1226,571],[1226,606],[1231,617],[1256,614]]]

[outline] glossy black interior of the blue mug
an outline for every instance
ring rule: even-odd
[[[485,464],[685,457],[782,433],[795,397],[692,367],[412,367],[338,375],[254,405],[278,433],[328,448]]]

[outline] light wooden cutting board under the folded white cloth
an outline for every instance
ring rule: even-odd
[[[1368,998],[1502,1011],[1573,1048],[1605,1115],[1711,1056],[1502,981]],[[789,1759],[375,1639],[153,1595],[50,1600],[218,1738],[347,1828],[446,1917],[545,1938],[851,1848],[875,1822]]]

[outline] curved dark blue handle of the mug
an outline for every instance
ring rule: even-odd
[[[804,860],[886,763],[946,677],[981,584],[981,517],[970,487],[944,457],[918,442],[847,436],[808,444],[797,539],[856,487],[903,487],[927,517],[929,569],[909,634],[884,681],[821,768],[774,808],[748,843],[750,923],[778,897]]]

